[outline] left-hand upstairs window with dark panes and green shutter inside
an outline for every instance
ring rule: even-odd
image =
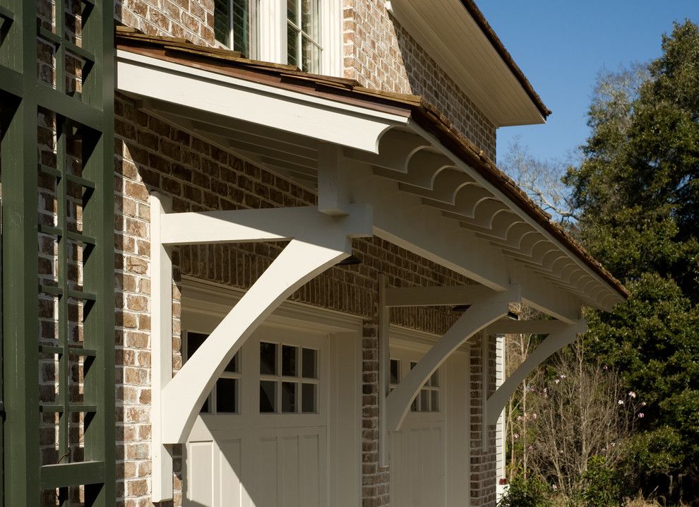
[[[259,0],[214,0],[214,36],[218,42],[256,59]]]

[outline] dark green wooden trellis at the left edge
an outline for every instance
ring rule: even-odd
[[[55,0],[54,30],[37,23],[36,0],[0,0],[0,160],[2,184],[2,372],[0,507],[39,506],[42,491],[70,504],[69,487],[84,487],[86,506],[115,504],[114,435],[114,4],[82,0],[81,44],[66,37],[67,0]],[[38,27],[38,28],[37,28]],[[37,37],[55,49],[56,87],[39,79]],[[83,62],[82,93],[66,92],[66,56]],[[37,155],[37,114],[56,119],[56,167]],[[82,170],[66,162],[66,138],[79,133]],[[39,175],[55,181],[56,223],[40,225]],[[68,229],[68,184],[82,193],[82,230]],[[39,285],[39,232],[54,237],[57,283]],[[68,241],[83,246],[83,285],[68,284]],[[40,294],[55,297],[55,345],[40,345]],[[82,301],[83,342],[69,340],[68,300]],[[54,354],[58,392],[42,404],[39,359]],[[73,359],[70,359],[73,357]],[[71,361],[84,361],[83,401],[69,396]],[[40,459],[40,416],[58,414],[55,464]],[[84,455],[71,463],[71,414],[84,414]],[[67,457],[67,458],[66,458]]]

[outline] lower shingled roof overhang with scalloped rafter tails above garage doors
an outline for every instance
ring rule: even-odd
[[[417,99],[269,77],[167,51],[117,52],[117,89],[149,114],[313,191],[332,165],[347,201],[372,206],[378,237],[491,289],[520,285],[523,302],[569,323],[583,305],[623,299],[619,282]]]

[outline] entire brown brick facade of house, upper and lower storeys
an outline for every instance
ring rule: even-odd
[[[44,4],[42,4],[44,5]],[[49,4],[44,7],[49,9]],[[121,0],[115,16],[122,23],[148,34],[183,37],[197,44],[213,45],[213,0]],[[391,19],[383,1],[345,0],[345,76],[383,90],[424,95],[453,124],[494,159],[495,129],[463,95],[435,62]],[[50,23],[49,23],[50,24]],[[52,69],[40,69],[52,83]],[[79,79],[74,81],[79,87]],[[173,199],[175,212],[269,208],[313,205],[316,196],[264,169],[243,162],[233,153],[191,136],[177,126],[167,124],[138,111],[131,100],[117,97],[115,143],[116,216],[116,321],[117,340],[117,505],[146,507],[150,502],[150,207],[151,191],[160,191]],[[49,166],[55,153],[54,119],[41,117],[42,161]],[[55,157],[54,157],[55,158]],[[79,201],[76,198],[76,203]],[[52,223],[55,211],[54,189],[42,188],[40,216]],[[71,211],[71,223],[79,227],[80,210]],[[220,282],[246,289],[263,273],[283,245],[243,244],[237,246],[192,246],[174,252],[173,368],[181,367],[181,314],[178,281],[181,275]],[[53,241],[40,237],[40,273],[42,283],[54,280],[56,256]],[[309,282],[290,299],[364,318],[362,354],[362,499],[366,506],[389,503],[389,471],[378,466],[378,302],[377,278],[388,275],[391,286],[458,285],[470,281],[424,258],[402,250],[378,238],[356,239],[354,255],[359,266],[331,268]],[[78,246],[71,251],[74,283],[80,283]],[[56,329],[55,305],[51,298],[40,302],[42,338],[53,339]],[[80,321],[80,307],[71,308],[73,319]],[[439,308],[392,309],[393,323],[443,333],[457,316]],[[71,329],[76,339],[79,324]],[[471,355],[472,387],[472,503],[474,507],[494,505],[494,446],[480,448],[481,352],[474,345]],[[493,358],[494,353],[489,357]],[[51,356],[42,362],[42,401],[51,402],[56,362]],[[494,376],[492,365],[489,371]],[[71,365],[71,374],[80,384],[82,364]],[[78,397],[80,393],[75,393]],[[77,398],[76,398],[77,399]],[[56,463],[56,421],[42,416],[43,463]],[[82,421],[71,436],[80,452]],[[489,441],[494,434],[489,434]],[[167,505],[182,501],[181,458],[175,459],[175,496]],[[492,477],[491,477],[492,476]],[[491,493],[492,491],[492,493]],[[80,491],[71,491],[79,499]],[[47,497],[46,504],[55,504]],[[53,503],[52,503],[53,502]]]

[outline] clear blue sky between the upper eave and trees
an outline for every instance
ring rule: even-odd
[[[699,0],[477,0],[479,8],[553,111],[545,125],[498,129],[498,160],[515,136],[542,159],[581,145],[597,73],[660,55],[674,20],[699,22]]]

